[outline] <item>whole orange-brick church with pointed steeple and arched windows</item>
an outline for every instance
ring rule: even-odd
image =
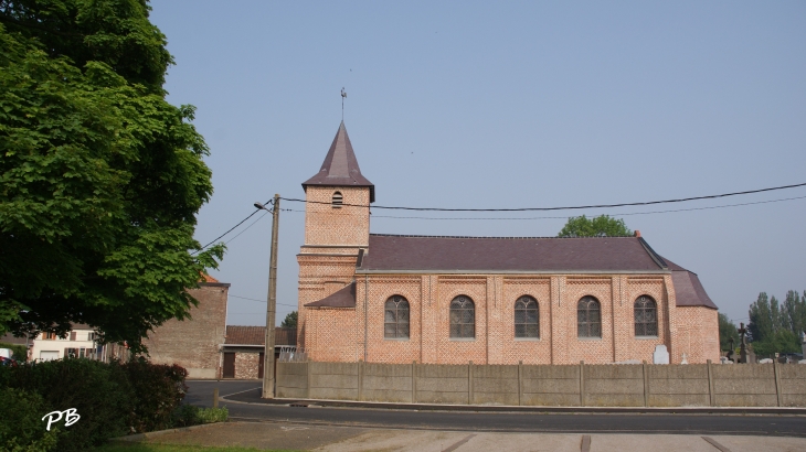
[[[696,273],[635,237],[370,234],[375,187],[343,122],[303,183],[298,346],[312,360],[426,364],[719,362]]]

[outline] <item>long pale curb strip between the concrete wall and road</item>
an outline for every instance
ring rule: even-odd
[[[227,396],[229,397],[229,396]],[[806,416],[799,407],[548,407],[512,405],[435,405],[390,403],[326,399],[247,399],[220,397],[221,401],[250,405],[288,405],[298,407],[370,408],[410,411],[538,412],[538,413],[664,413],[664,415],[785,415]]]

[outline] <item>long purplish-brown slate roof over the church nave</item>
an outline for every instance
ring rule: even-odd
[[[435,237],[371,234],[359,273],[666,272],[640,237]]]

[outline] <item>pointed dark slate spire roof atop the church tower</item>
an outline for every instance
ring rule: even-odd
[[[358,166],[358,159],[356,159],[356,152],[352,150],[350,137],[347,134],[344,121],[339,125],[339,130],[336,132],[327,157],[325,157],[321,170],[315,176],[303,182],[303,189],[308,190],[308,185],[368,186],[370,189],[370,202],[375,202],[375,185],[361,175],[361,169]]]

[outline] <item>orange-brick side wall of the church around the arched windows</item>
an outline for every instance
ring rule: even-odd
[[[347,281],[346,275],[341,277]],[[401,364],[651,363],[657,345],[666,345],[671,363],[680,363],[683,353],[691,364],[719,359],[717,311],[677,308],[667,276],[358,275],[357,282],[354,309],[306,309],[312,323],[300,334],[311,359],[357,362],[365,356],[368,363]],[[316,290],[300,287],[300,304],[305,293],[305,302],[328,294],[322,282]],[[385,338],[383,334],[384,303],[395,294],[409,301],[407,340]],[[449,303],[460,294],[475,304],[473,340],[450,338]],[[539,338],[515,337],[515,302],[521,295],[538,301]],[[577,302],[586,295],[600,302],[601,337],[577,337]],[[635,335],[634,303],[641,295],[655,300],[657,336]]]

